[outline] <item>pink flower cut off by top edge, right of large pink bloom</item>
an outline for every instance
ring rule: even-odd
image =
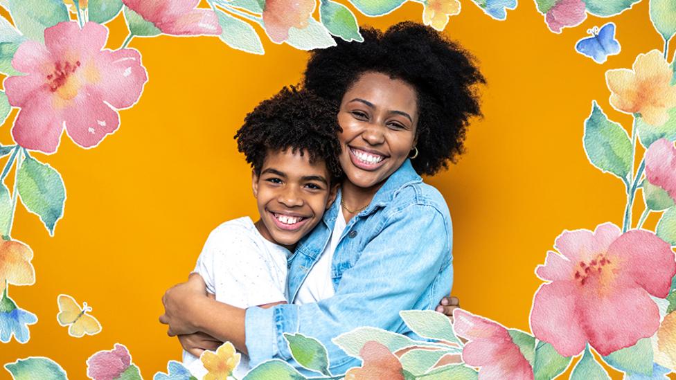
[[[220,35],[218,17],[197,8],[199,0],[122,0],[125,6],[167,35]]]

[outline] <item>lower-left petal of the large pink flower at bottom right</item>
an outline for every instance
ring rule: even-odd
[[[587,336],[578,320],[578,289],[573,281],[542,284],[533,297],[531,331],[563,356],[582,352]]]

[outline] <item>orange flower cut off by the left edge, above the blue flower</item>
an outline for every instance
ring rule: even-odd
[[[29,246],[0,239],[0,293],[5,290],[5,281],[12,285],[35,283],[35,269],[30,260],[33,260],[33,251]]]

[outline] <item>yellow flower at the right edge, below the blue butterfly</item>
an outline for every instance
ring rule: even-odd
[[[676,107],[673,71],[657,50],[639,54],[633,70],[608,70],[605,79],[611,91],[610,105],[628,114],[639,113],[646,123],[659,127],[669,120],[667,111]]]

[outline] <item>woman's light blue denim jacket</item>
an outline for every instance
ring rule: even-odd
[[[290,300],[319,260],[338,212],[339,199],[290,257]],[[305,305],[247,309],[251,366],[276,358],[312,373],[293,361],[283,333],[299,332],[321,341],[333,374],[359,365],[359,359],[332,343],[331,338],[339,334],[368,325],[419,338],[404,325],[398,311],[434,309],[450,293],[451,247],[446,203],[438,190],[422,183],[407,159],[343,231],[331,265],[334,296]]]

